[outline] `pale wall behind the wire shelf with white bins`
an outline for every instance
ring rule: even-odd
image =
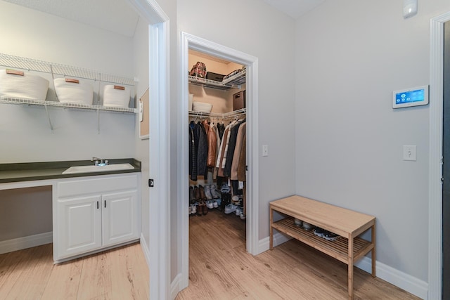
[[[0,53],[133,77],[132,39],[0,1]],[[43,74],[51,80],[50,74]],[[49,91],[49,94],[53,91]],[[1,105],[0,162],[134,157],[133,114]]]

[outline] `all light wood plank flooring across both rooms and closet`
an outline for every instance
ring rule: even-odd
[[[210,211],[191,216],[189,287],[177,300],[347,299],[347,265],[296,240],[245,252],[245,222]],[[148,299],[139,243],[53,265],[52,245],[0,255],[0,299]],[[355,268],[355,299],[418,299]]]

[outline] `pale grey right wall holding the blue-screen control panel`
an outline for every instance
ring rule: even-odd
[[[391,92],[429,84],[430,18],[449,1],[326,1],[296,22],[296,192],[377,217],[377,260],[428,280],[428,106]],[[402,160],[417,145],[417,161]]]

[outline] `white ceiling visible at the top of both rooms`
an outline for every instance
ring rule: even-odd
[[[133,37],[139,14],[125,0],[4,0]],[[297,19],[325,0],[262,0]]]

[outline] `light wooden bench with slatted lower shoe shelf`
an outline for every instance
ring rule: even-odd
[[[286,218],[274,222],[274,211]],[[340,235],[328,241],[294,223],[300,219]],[[353,265],[372,252],[372,276],[375,277],[375,217],[300,196],[286,197],[270,203],[270,249],[274,249],[274,229],[289,235],[348,265],[348,294],[353,299]],[[371,241],[359,237],[371,229]]]

